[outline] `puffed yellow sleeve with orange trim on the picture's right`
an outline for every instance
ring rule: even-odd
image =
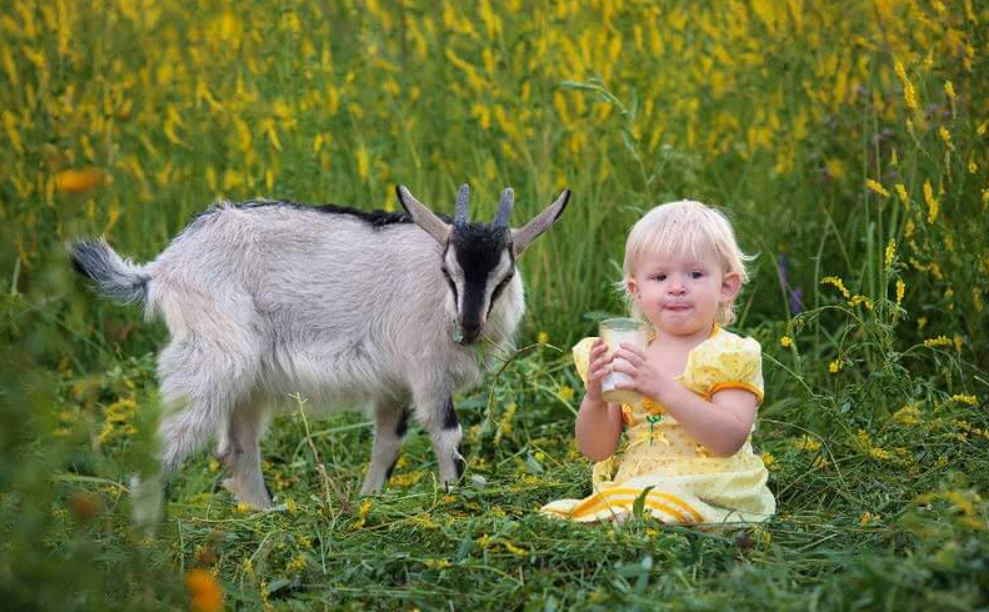
[[[701,347],[698,347],[701,348]],[[762,347],[752,338],[734,336],[691,354],[684,382],[710,399],[718,391],[742,389],[762,403]]]

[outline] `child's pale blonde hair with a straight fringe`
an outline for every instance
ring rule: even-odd
[[[644,255],[657,254],[696,259],[714,254],[721,263],[722,271],[725,274],[737,273],[742,285],[749,280],[745,262],[755,259],[739,248],[735,230],[721,211],[692,200],[656,206],[632,226],[625,242],[622,291],[629,312],[638,318],[642,318],[642,313],[628,292],[628,281],[635,275],[635,265]],[[734,320],[734,301],[719,304],[717,322],[728,325]]]

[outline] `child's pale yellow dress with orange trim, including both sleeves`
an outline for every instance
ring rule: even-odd
[[[585,383],[595,340],[584,338],[573,348]],[[690,351],[677,380],[704,398],[723,389],[745,389],[762,402],[762,350],[755,340],[716,326]],[[550,502],[540,512],[578,522],[620,519],[647,489],[643,512],[664,523],[751,523],[776,512],[766,486],[769,474],[752,452],[751,433],[734,455],[715,457],[650,398],[622,405],[622,414],[626,440],[615,455],[594,465],[594,493]]]

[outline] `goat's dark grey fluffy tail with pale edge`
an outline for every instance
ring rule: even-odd
[[[72,266],[96,283],[103,295],[124,303],[145,302],[151,275],[117,255],[106,240],[81,240],[72,245]]]

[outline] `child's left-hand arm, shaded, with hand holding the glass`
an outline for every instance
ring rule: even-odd
[[[607,459],[618,447],[622,433],[622,411],[617,404],[605,402],[601,397],[601,380],[608,373],[611,359],[608,347],[598,340],[590,354],[587,371],[587,393],[580,403],[574,435],[577,448],[588,459]]]

